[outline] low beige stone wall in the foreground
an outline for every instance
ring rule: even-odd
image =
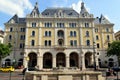
[[[105,80],[101,72],[94,71],[29,71],[25,80]]]

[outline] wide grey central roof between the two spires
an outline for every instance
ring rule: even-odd
[[[79,16],[79,13],[77,13],[72,8],[48,8],[42,12],[42,15],[44,16],[53,16],[53,15],[58,15],[58,14],[63,14],[63,15],[71,16],[71,17]]]

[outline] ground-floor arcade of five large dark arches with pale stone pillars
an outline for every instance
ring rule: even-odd
[[[86,69],[88,67],[93,67],[94,62],[96,62],[96,66],[99,66],[98,59],[96,57],[94,60],[94,55],[92,52],[29,52],[24,56],[25,67],[37,66],[39,69],[52,69],[56,67],[75,67],[78,69]]]

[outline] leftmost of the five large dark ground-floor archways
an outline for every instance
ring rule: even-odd
[[[35,67],[37,65],[37,54],[30,53],[29,55],[28,67]]]

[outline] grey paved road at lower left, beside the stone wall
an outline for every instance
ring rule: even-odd
[[[0,80],[23,80],[21,72],[0,72]]]

